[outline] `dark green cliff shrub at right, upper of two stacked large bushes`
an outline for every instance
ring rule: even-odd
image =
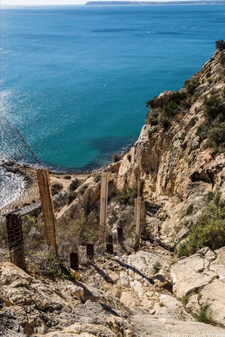
[[[220,113],[224,113],[222,100],[217,96],[215,90],[211,90],[211,95],[205,97],[203,103],[203,116],[205,116],[205,119],[209,122],[212,122]]]

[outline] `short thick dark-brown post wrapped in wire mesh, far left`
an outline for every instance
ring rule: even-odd
[[[17,267],[25,270],[26,265],[21,216],[18,214],[8,213],[5,218],[10,261]]]

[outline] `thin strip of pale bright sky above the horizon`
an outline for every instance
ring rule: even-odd
[[[75,5],[83,4],[91,0],[1,0],[1,5]],[[98,0],[101,1],[101,0]],[[136,0],[142,1],[142,0]],[[148,0],[143,0],[148,1]],[[174,0],[152,0],[152,1],[174,1]],[[179,0],[185,1],[185,0]]]

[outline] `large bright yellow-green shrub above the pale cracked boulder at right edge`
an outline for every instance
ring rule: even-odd
[[[215,250],[225,245],[224,201],[219,193],[216,194],[213,199],[215,202],[209,204],[195,222],[189,222],[187,240],[175,249],[178,258],[192,255],[203,247]]]

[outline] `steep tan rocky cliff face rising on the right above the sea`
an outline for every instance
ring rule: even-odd
[[[222,53],[216,51],[192,78],[195,87],[189,97],[190,108],[175,114],[168,129],[156,129],[151,136],[149,130],[152,130],[152,126],[145,124],[130,151],[130,160],[124,156],[119,168],[120,187],[124,186],[125,181],[129,186],[134,186],[137,177],[140,177],[145,183],[145,199],[167,213],[163,221],[160,216],[149,216],[152,227],[159,228],[159,235],[167,242],[172,241],[173,230],[190,204],[193,204],[193,212],[189,218],[201,213],[206,192],[220,188],[225,196],[225,155],[215,153],[211,148],[205,149],[207,139],[201,141],[201,137],[196,135],[205,121],[204,98],[210,97],[212,90],[223,102],[222,114],[225,111],[224,68],[220,62]],[[182,88],[180,93],[185,90],[185,87]],[[171,94],[167,91],[160,94],[154,99],[152,108],[165,106]],[[218,122],[222,114],[217,117]],[[222,137],[224,134],[221,133]]]

